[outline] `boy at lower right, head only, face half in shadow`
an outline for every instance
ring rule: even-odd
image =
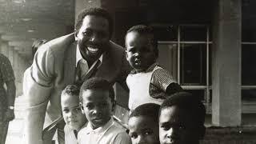
[[[191,94],[173,94],[162,102],[159,113],[161,144],[199,144],[204,137],[206,108]]]

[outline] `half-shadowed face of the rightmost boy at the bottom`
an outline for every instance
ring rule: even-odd
[[[202,128],[194,117],[178,106],[163,108],[159,116],[159,140],[161,144],[196,144],[201,138]]]

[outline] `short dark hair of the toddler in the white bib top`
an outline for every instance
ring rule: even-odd
[[[137,32],[138,34],[151,34],[153,36],[152,45],[154,46],[154,54],[156,54],[158,57],[158,40],[154,37],[154,30],[152,27],[145,25],[132,26],[129,30],[127,30],[126,35],[130,32]]]

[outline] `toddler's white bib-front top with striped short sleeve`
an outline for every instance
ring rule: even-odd
[[[130,89],[129,108],[134,110],[145,103],[161,105],[166,98],[166,88],[175,82],[167,70],[154,63],[147,70],[136,72],[132,70],[126,78]]]

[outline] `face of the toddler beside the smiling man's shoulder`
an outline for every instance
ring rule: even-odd
[[[156,61],[152,34],[130,32],[126,35],[126,59],[135,70],[146,70]]]

